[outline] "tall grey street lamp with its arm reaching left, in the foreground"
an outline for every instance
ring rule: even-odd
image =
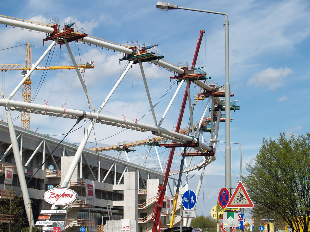
[[[224,15],[226,20],[225,26],[225,115],[228,117],[230,115],[230,85],[229,85],[229,46],[228,46],[228,15],[226,13],[216,12],[216,11],[205,11],[186,7],[180,7],[169,2],[157,2],[156,7],[161,11],[168,10],[188,10],[188,11],[199,11],[211,14]],[[225,120],[225,187],[231,189],[231,148],[230,148],[230,120]]]

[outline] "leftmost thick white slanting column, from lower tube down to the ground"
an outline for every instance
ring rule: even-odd
[[[13,121],[12,121],[10,106],[7,106],[5,110],[7,113],[7,124],[9,127],[11,144],[12,144],[13,154],[14,154],[14,158],[15,158],[15,164],[16,164],[18,179],[20,182],[20,188],[21,188],[21,191],[23,194],[25,211],[26,211],[26,215],[27,215],[27,218],[29,221],[29,225],[34,226],[34,220],[31,220],[33,218],[33,214],[32,214],[32,211],[30,211],[30,209],[29,209],[29,207],[30,207],[29,192],[28,192],[28,188],[27,188],[24,167],[23,167],[22,161],[20,159],[20,150],[18,147],[18,142],[17,142],[15,129],[14,129]]]

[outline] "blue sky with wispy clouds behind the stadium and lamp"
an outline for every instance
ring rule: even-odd
[[[196,67],[206,66],[204,69],[212,80],[219,85],[224,85],[224,16],[206,14],[201,12],[171,10],[168,12],[157,11],[157,1],[8,1],[2,6],[2,15],[27,19],[49,24],[50,19],[59,18],[60,24],[75,22],[79,28],[84,28],[88,35],[99,37],[108,41],[126,45],[128,41],[138,41],[138,44],[153,45],[164,60],[174,64],[188,62],[191,64],[196,48],[200,30],[205,30]],[[231,142],[241,143],[242,161],[253,163],[253,157],[258,153],[263,138],[277,138],[279,131],[305,134],[309,131],[309,42],[310,19],[309,2],[303,0],[287,1],[175,1],[172,2],[182,7],[225,12],[229,17],[229,62],[230,62],[230,87],[238,100],[240,110],[232,112]],[[0,49],[5,49],[27,42],[33,45],[33,63],[42,54],[41,49],[46,49],[50,42],[43,46],[44,33],[29,32],[20,28],[5,27],[0,25]],[[82,62],[93,60],[94,70],[87,70],[85,80],[91,92],[91,97],[96,108],[103,102],[111,84],[119,77],[125,63],[119,65],[120,54],[94,46],[70,44],[76,59],[81,57]],[[0,64],[24,63],[25,46],[0,51]],[[59,49],[57,45],[51,63],[65,64],[68,58],[65,46]],[[58,56],[56,56],[58,55]],[[44,60],[42,62],[42,66]],[[172,72],[160,69],[150,64],[144,64],[144,71],[150,83],[153,101],[157,101],[170,87],[169,77]],[[37,71],[40,72],[40,71]],[[2,90],[6,96],[20,81],[19,71],[2,73]],[[33,82],[32,93],[39,85],[42,73],[31,76]],[[138,65],[133,67],[126,75],[124,84],[121,85],[116,95],[103,110],[103,114],[135,119],[144,115],[148,110],[148,102],[141,84]],[[172,95],[176,87],[167,95]],[[198,89],[193,90],[193,94]],[[173,129],[178,116],[178,105],[182,96],[176,100],[175,107],[165,119],[164,125]],[[167,97],[167,96],[166,96]],[[20,100],[16,95],[13,99]],[[161,117],[170,98],[165,98],[158,104]],[[85,94],[77,81],[74,71],[48,72],[35,103],[43,104],[49,101],[50,105],[67,108],[87,110]],[[154,102],[153,102],[154,103]],[[204,102],[198,102],[197,112],[201,112]],[[296,107],[301,106],[301,109]],[[294,108],[295,107],[295,108]],[[17,117],[17,113],[13,113]],[[2,109],[1,117],[5,120]],[[43,119],[42,119],[43,118]],[[184,116],[186,127],[188,114]],[[152,118],[148,114],[144,122],[151,124]],[[199,118],[194,119],[199,120]],[[20,120],[16,119],[16,125]],[[73,121],[31,115],[31,130],[39,126],[39,133],[60,135],[69,131]],[[95,130],[95,135],[89,141],[101,140],[89,144],[90,147],[113,145],[124,141],[142,140],[151,136],[146,133],[129,131],[114,135],[120,130],[113,127],[102,126]],[[87,128],[87,127],[86,127]],[[79,144],[84,127],[71,133],[67,141]],[[107,138],[111,135],[111,138]],[[54,136],[62,139],[62,136]],[[208,135],[205,135],[208,139]],[[104,140],[103,140],[104,139]],[[224,123],[220,126],[219,140],[225,139]],[[240,180],[239,145],[232,144],[232,187],[237,186]],[[130,154],[131,160],[140,161],[139,154],[147,148],[136,148]],[[161,157],[167,156],[162,148]],[[116,155],[115,152],[110,152]],[[153,153],[155,154],[155,153]],[[216,153],[217,160],[206,168],[204,211],[209,215],[216,201],[219,190],[224,187],[224,143],[219,143]],[[126,157],[124,157],[126,158]],[[175,158],[173,168],[179,166],[180,159]],[[163,160],[163,163],[165,161]],[[159,168],[158,163],[150,161],[149,167]],[[246,174],[245,168],[243,173]],[[191,174],[191,173],[190,173]],[[198,172],[197,174],[200,174]],[[212,176],[211,176],[212,175]],[[213,176],[215,175],[215,176]],[[199,176],[198,176],[199,178]],[[211,182],[210,179],[218,178],[219,181]],[[208,182],[209,181],[209,182]],[[195,186],[195,185],[193,185]],[[195,190],[195,189],[193,189]],[[206,197],[208,201],[206,202]],[[208,210],[206,210],[208,209]],[[202,209],[197,209],[198,214]]]

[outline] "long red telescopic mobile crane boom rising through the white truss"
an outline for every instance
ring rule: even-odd
[[[200,49],[200,45],[201,45],[201,40],[203,37],[203,33],[205,33],[205,32],[206,31],[204,31],[204,30],[200,30],[191,69],[195,68],[199,49]],[[184,75],[184,77],[186,76],[185,73],[183,75]],[[189,82],[189,86],[190,86],[190,84],[191,84],[191,82]],[[181,109],[180,109],[178,122],[177,122],[177,125],[175,128],[176,132],[179,132],[179,129],[181,127],[181,122],[182,122],[182,118],[183,118],[183,113],[184,113],[187,97],[188,97],[188,95],[187,95],[187,88],[186,88],[185,92],[184,92],[184,97],[183,97],[183,101],[182,101],[182,105],[181,105]],[[174,152],[175,152],[175,148],[174,147],[170,148],[170,154],[169,154],[168,161],[167,161],[167,167],[166,167],[166,171],[165,171],[164,180],[163,180],[162,185],[158,186],[156,202],[154,205],[153,215],[152,215],[152,219],[151,219],[154,222],[152,232],[155,232],[157,230],[158,222],[160,221],[160,212],[161,212],[162,204],[163,204],[165,193],[166,193],[166,187],[167,187],[167,183],[168,183],[169,172],[170,172]],[[176,195],[176,197],[177,197],[177,195]]]

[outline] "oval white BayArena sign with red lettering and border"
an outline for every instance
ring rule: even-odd
[[[51,188],[44,193],[44,200],[53,205],[67,205],[74,202],[78,194],[69,188]]]

